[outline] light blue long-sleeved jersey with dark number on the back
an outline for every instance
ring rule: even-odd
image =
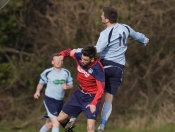
[[[133,38],[144,46],[148,43],[144,34],[135,32],[125,24],[115,24],[107,27],[100,33],[100,37],[95,45],[97,53],[100,53],[100,60],[109,60],[125,65],[125,52],[127,50],[127,39]]]

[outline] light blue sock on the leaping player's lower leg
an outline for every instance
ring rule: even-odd
[[[111,115],[111,112],[112,112],[112,104],[110,102],[104,103],[102,112],[101,112],[101,122],[100,122],[100,126],[98,127],[98,130],[99,129],[104,130],[106,122],[109,116]]]

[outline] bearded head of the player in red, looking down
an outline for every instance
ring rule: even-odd
[[[81,53],[82,53],[82,59],[81,59],[82,65],[88,66],[92,62],[94,62],[97,50],[94,46],[86,46],[82,49]]]

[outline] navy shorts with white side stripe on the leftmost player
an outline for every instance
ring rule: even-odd
[[[47,117],[57,117],[63,108],[63,100],[56,100],[50,97],[45,96],[44,106],[46,108],[47,114],[44,116]]]

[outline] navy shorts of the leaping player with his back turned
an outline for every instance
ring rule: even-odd
[[[105,68],[105,91],[115,95],[122,82],[124,65],[109,60],[101,60],[101,63]]]

